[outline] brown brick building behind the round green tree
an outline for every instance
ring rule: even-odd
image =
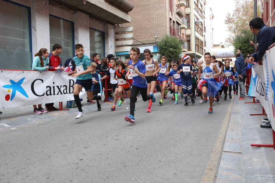
[[[140,59],[145,59],[142,53],[146,48],[151,50],[154,59],[158,59],[157,42],[164,34],[185,40],[185,29],[188,24],[185,17],[186,0],[133,0],[133,3],[134,9],[129,12],[131,22],[123,23],[121,26],[134,27],[132,46],[140,48]],[[187,50],[186,42],[182,45],[182,55]],[[128,59],[129,52],[116,52],[116,56],[123,60]]]

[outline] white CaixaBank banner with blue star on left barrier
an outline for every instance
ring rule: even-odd
[[[0,70],[0,109],[74,100],[68,72]]]

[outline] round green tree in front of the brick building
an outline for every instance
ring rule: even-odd
[[[178,41],[175,36],[163,35],[158,42],[160,56],[166,56],[168,62],[178,60],[182,53],[182,42]]]

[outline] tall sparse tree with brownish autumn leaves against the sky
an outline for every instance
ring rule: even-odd
[[[226,39],[226,45],[232,44],[233,39],[242,29],[249,29],[249,21],[254,18],[254,0],[235,0],[235,3],[235,10],[232,14],[227,13],[225,20],[230,33],[229,38]],[[260,0],[257,0],[257,16],[260,16],[260,6]]]

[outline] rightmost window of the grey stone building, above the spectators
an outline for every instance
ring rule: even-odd
[[[105,34],[90,28],[90,58],[94,53],[97,53],[100,59],[105,57]]]

